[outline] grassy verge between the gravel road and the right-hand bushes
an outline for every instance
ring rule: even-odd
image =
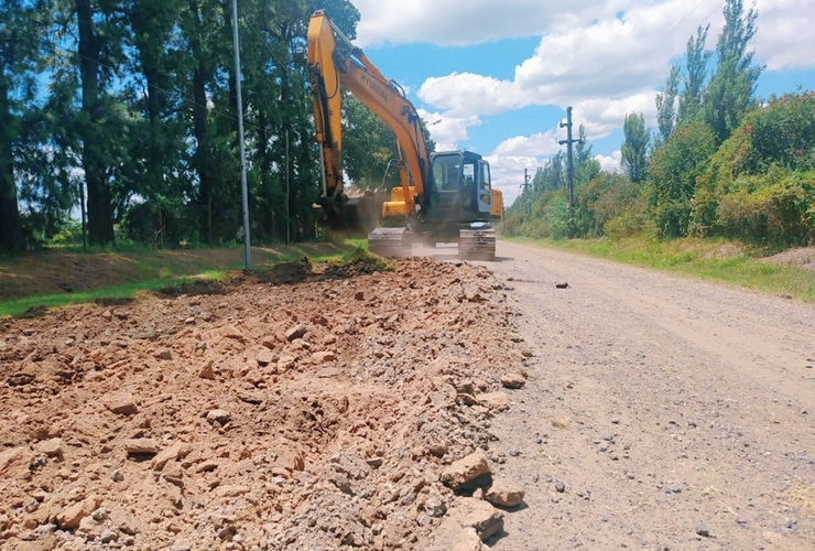
[[[569,252],[577,252],[643,268],[720,281],[785,298],[815,302],[815,271],[771,262],[767,251],[741,244],[714,239],[649,240],[628,239],[543,239],[510,238]]]

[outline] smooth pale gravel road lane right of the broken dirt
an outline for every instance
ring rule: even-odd
[[[815,549],[815,305],[498,255],[534,360],[492,423],[526,497],[491,549]]]

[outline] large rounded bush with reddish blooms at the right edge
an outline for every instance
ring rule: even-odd
[[[815,95],[772,99],[748,114],[698,177],[694,235],[812,241]]]

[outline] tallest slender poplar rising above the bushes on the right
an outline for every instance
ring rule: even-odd
[[[752,65],[747,44],[756,35],[758,12],[745,13],[742,0],[725,2],[725,26],[716,45],[716,72],[704,93],[705,120],[718,140],[726,140],[753,102],[763,66]]]

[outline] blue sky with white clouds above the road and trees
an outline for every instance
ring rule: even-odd
[[[643,112],[687,39],[710,25],[716,47],[724,0],[355,0],[355,43],[408,91],[438,150],[485,155],[510,204],[523,170],[561,149],[567,106],[607,170],[619,169],[622,123]],[[749,9],[751,0],[745,0]],[[757,95],[815,89],[815,1],[757,0]]]

